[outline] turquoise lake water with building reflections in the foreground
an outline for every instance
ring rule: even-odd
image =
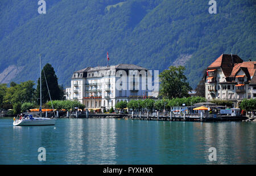
[[[57,119],[18,127],[0,118],[0,134],[0,164],[256,164],[254,122]],[[210,147],[217,161],[209,161]]]

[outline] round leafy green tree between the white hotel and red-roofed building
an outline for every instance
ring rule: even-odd
[[[164,98],[181,98],[188,97],[188,92],[192,90],[187,83],[184,75],[185,67],[170,66],[168,70],[164,70],[159,74],[160,92]]]

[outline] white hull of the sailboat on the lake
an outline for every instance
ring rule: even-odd
[[[34,119],[16,119],[14,126],[38,126],[38,125],[55,125],[55,119],[51,118],[34,118]]]

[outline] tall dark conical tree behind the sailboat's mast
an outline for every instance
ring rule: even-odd
[[[46,75],[46,78],[44,78],[44,74]],[[61,100],[61,90],[58,85],[58,79],[55,74],[54,68],[52,67],[51,64],[47,63],[43,67],[43,70],[41,71],[41,77],[42,77],[42,103],[45,103],[50,100],[49,93],[51,95],[52,100]],[[48,84],[49,93],[48,93],[46,81]],[[36,96],[38,98],[40,97],[40,78],[38,79]]]

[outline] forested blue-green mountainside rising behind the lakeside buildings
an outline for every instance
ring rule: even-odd
[[[45,1],[46,14],[38,1],[0,1],[0,73],[16,66],[13,81],[38,79],[39,53],[64,86],[73,71],[106,65],[107,51],[109,65],[184,65],[193,88],[222,53],[256,59],[254,0],[216,0],[217,14],[207,0]]]

